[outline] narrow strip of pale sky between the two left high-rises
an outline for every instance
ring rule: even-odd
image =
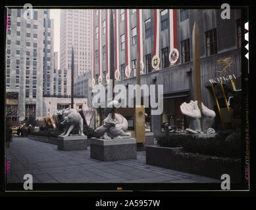
[[[58,56],[60,56],[60,16],[60,9],[50,9],[50,18],[54,19],[54,52],[58,52]]]

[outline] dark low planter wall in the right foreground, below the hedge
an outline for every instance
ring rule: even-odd
[[[230,182],[241,182],[241,159],[217,158],[182,152],[182,148],[146,146],[146,163],[167,169],[220,179],[230,175]]]

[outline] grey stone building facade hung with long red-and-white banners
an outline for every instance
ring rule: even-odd
[[[163,134],[165,121],[169,121],[172,127],[188,126],[187,120],[180,112],[180,104],[193,100],[192,31],[194,22],[199,28],[202,102],[215,110],[217,129],[220,124],[220,114],[225,123],[230,123],[226,104],[223,102],[223,97],[221,98],[220,85],[214,85],[217,97],[220,96],[222,100],[219,102],[219,114],[209,79],[231,75],[234,85],[232,86],[228,79],[223,81],[224,91],[230,90],[230,87],[233,87],[233,91],[241,87],[242,22],[239,9],[231,10],[230,20],[222,20],[221,10],[218,9],[114,9],[113,11],[115,70],[119,70],[120,74],[115,83],[126,85],[126,87],[136,84],[134,70],[136,70],[139,53],[143,66],[141,85],[163,85],[163,114],[150,117],[151,130],[155,135]],[[109,11],[94,10],[92,17],[91,80],[94,79],[95,84],[101,82],[103,85],[106,84],[109,72],[109,33],[106,26],[109,26],[107,14],[110,13],[107,12]],[[115,26],[118,27],[115,28]],[[170,64],[168,56],[173,48],[178,49],[179,58],[175,64]],[[156,54],[160,62],[159,67],[153,70],[151,61]],[[131,69],[128,76],[125,73],[127,66]],[[90,108],[92,108],[93,97],[91,91],[90,88],[88,95]],[[151,109],[147,109],[146,112],[150,116]],[[99,122],[101,122],[104,117],[102,109],[98,110],[96,116],[100,116]]]

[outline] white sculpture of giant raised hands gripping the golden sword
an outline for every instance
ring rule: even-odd
[[[185,130],[186,133],[199,134],[199,133],[215,133],[212,128],[215,120],[215,112],[207,108],[202,102],[202,114],[199,110],[197,100],[190,100],[190,103],[184,102],[180,106],[182,114],[188,116],[190,120],[190,127]],[[203,128],[201,129],[201,116],[203,120]],[[203,132],[202,132],[203,130]]]

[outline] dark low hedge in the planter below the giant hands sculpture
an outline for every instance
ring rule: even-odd
[[[158,137],[157,144],[163,147],[180,147],[184,152],[205,154],[224,158],[241,157],[241,134],[234,131],[222,131],[215,137],[203,138],[193,135],[170,135]]]

